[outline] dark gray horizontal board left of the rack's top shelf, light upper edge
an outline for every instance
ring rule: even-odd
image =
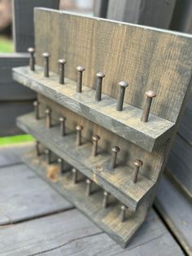
[[[0,54],[0,101],[35,99],[36,93],[12,79],[11,68],[28,64],[28,54]]]

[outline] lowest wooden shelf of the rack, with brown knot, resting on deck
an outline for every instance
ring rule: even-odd
[[[79,182],[74,184],[71,171],[59,174],[58,164],[47,165],[44,156],[37,157],[34,151],[26,153],[23,161],[122,247],[128,244],[129,239],[144,221],[146,210],[140,207],[136,213],[127,210],[127,220],[121,223],[120,202],[116,198],[110,196],[108,207],[104,209],[102,189],[95,186],[91,195],[85,196],[85,179],[82,175],[79,175]],[[50,171],[54,171],[55,179],[49,178]]]

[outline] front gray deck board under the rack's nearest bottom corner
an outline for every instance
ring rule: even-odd
[[[3,256],[184,255],[153,210],[127,249],[120,248],[78,210],[3,227],[0,241]]]

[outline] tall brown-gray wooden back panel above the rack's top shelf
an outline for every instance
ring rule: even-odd
[[[117,98],[118,82],[127,81],[125,102],[137,108],[142,108],[146,90],[155,90],[151,113],[177,120],[190,83],[192,36],[41,8],[35,11],[35,24],[38,65],[48,51],[50,69],[57,73],[59,58],[65,58],[66,77],[76,80],[76,66],[83,64],[83,83],[91,88],[102,70],[103,92]],[[38,24],[51,24],[55,33]]]

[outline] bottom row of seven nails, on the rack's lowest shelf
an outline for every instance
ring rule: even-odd
[[[40,142],[37,141],[36,143],[36,151],[37,151],[37,157],[41,156],[41,150],[40,150]],[[46,161],[47,164],[50,165],[52,163],[51,161],[51,151],[50,149],[45,150],[45,155],[46,155]],[[58,164],[59,164],[59,173],[63,174],[63,166],[64,166],[64,161],[62,158],[58,158],[57,159]],[[72,183],[77,184],[80,182],[80,180],[78,179],[78,170],[76,168],[72,168]],[[92,195],[92,185],[93,185],[93,181],[91,179],[85,179],[85,183],[86,183],[86,188],[85,188],[85,196],[91,196]],[[110,193],[107,191],[103,192],[103,201],[102,201],[102,205],[103,208],[106,209],[108,206],[110,206],[109,203],[109,196]],[[121,205],[121,211],[120,211],[120,221],[123,223],[126,220],[126,211],[128,209],[127,206],[125,205]]]

